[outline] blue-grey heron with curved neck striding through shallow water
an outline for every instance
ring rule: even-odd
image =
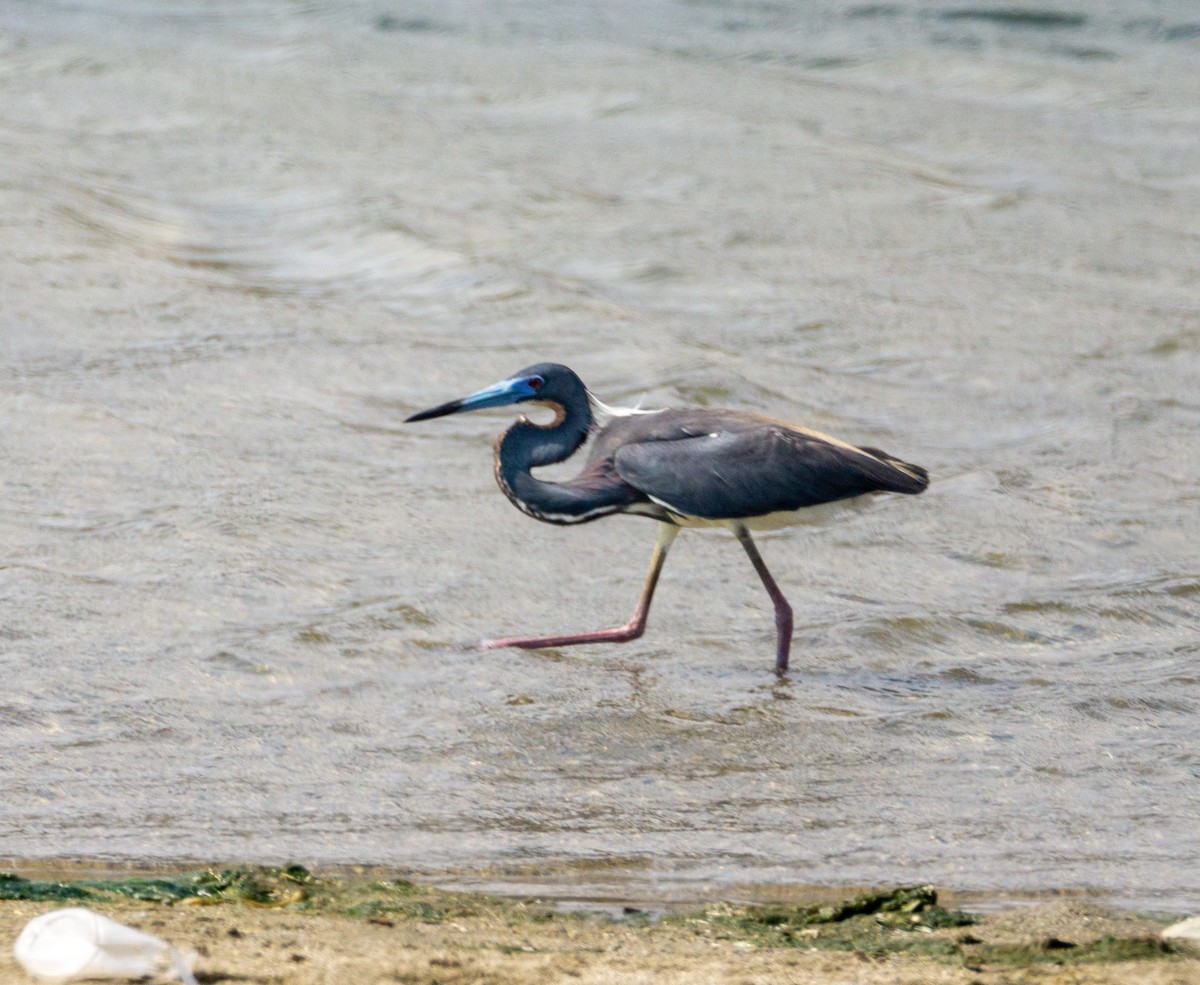
[[[792,607],[750,530],[798,522],[802,511],[826,503],[876,492],[914,494],[929,485],[920,466],[877,448],[857,448],[758,414],[703,407],[607,407],[571,370],[554,362],[529,366],[469,397],[413,414],[408,421],[514,403],[544,404],[554,412],[548,425],[522,415],[496,442],[496,481],[518,510],[546,523],[589,523],[612,513],[634,513],[661,525],[642,596],[625,625],[485,639],[485,649],[636,639],[646,629],[654,587],[679,528],[724,525],[742,542],[775,606],[775,669],[784,673],[792,645]],[[592,449],[575,479],[546,482],[533,476],[533,469],[569,458],[589,436]]]

